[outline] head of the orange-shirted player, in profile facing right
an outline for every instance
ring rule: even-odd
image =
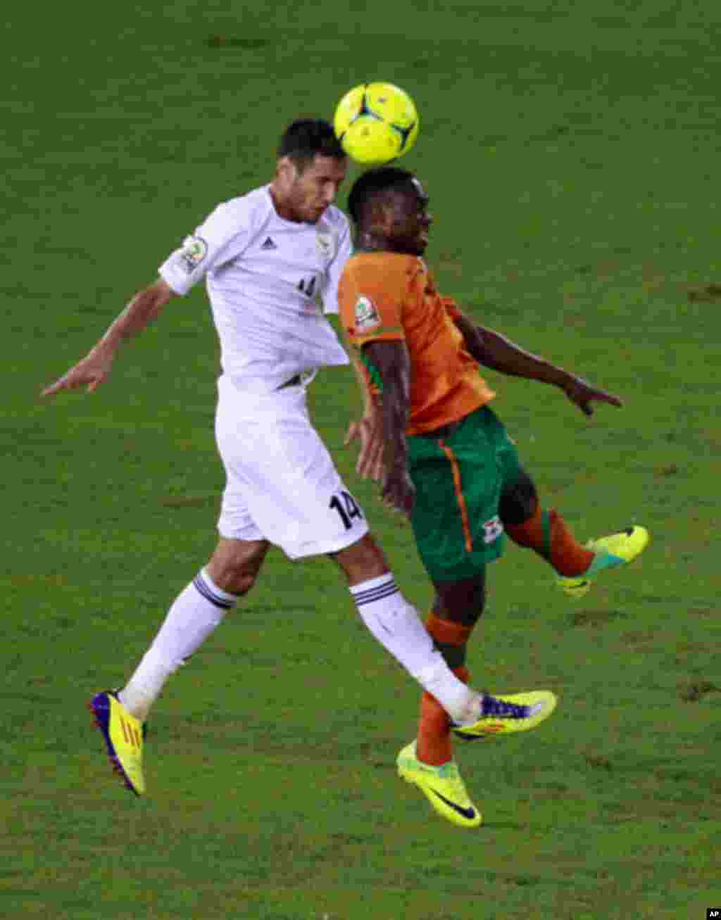
[[[433,217],[422,183],[407,169],[369,169],[355,180],[348,210],[360,245],[423,255]]]

